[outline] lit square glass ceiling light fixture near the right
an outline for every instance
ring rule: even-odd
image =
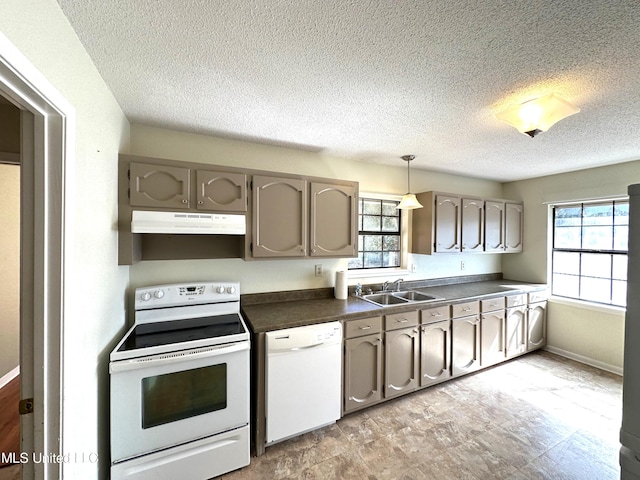
[[[496,117],[515,127],[520,133],[535,137],[540,132],[546,132],[553,124],[563,118],[578,113],[564,98],[550,93],[540,98],[534,98],[519,105],[512,105]]]

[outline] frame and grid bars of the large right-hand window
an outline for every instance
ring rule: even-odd
[[[614,288],[614,282],[624,282],[625,285],[627,283],[627,276],[626,276],[626,269],[625,269],[625,275],[624,275],[624,279],[622,278],[618,278],[615,275],[615,261],[614,258],[616,256],[620,257],[620,256],[624,256],[625,259],[628,255],[628,244],[627,244],[627,248],[626,249],[619,249],[616,248],[616,227],[619,226],[623,226],[626,227],[628,229],[628,222],[626,224],[617,224],[616,223],[616,205],[619,204],[629,204],[629,198],[628,197],[616,197],[616,198],[600,198],[600,199],[592,199],[592,200],[576,200],[576,201],[566,201],[566,202],[558,202],[558,203],[553,203],[550,204],[550,215],[549,215],[549,221],[550,221],[550,235],[549,235],[549,285],[551,287],[551,294],[552,296],[554,296],[555,298],[558,299],[563,299],[564,301],[567,302],[581,302],[581,303],[586,303],[586,304],[590,304],[593,306],[599,306],[602,308],[607,308],[607,309],[625,309],[626,308],[626,294],[624,295],[624,298],[622,299],[622,304],[620,303],[614,303],[616,302],[616,295],[614,294],[615,292],[615,288]],[[610,206],[612,209],[611,212],[611,223],[610,224],[606,224],[606,225],[598,225],[597,223],[585,223],[585,218],[589,218],[588,216],[585,216],[585,208],[588,207],[593,207],[595,205],[602,205],[602,206]],[[561,208],[579,208],[580,209],[580,223],[579,225],[574,225],[574,227],[579,228],[579,240],[580,240],[580,247],[577,248],[575,246],[556,246],[556,235],[558,232],[556,232],[556,209],[561,209]],[[627,206],[628,209],[628,206]],[[588,228],[589,226],[605,226],[605,227],[609,227],[611,228],[611,240],[612,240],[612,245],[611,248],[585,248],[584,247],[584,240],[585,240],[585,226]],[[563,227],[560,227],[563,228]],[[566,227],[564,227],[566,228]],[[557,267],[557,257],[556,257],[556,253],[577,253],[577,268],[578,268],[578,273],[577,274],[572,274],[572,273],[567,273],[567,272],[562,272],[560,270],[556,271],[556,267]],[[608,277],[604,277],[604,276],[599,276],[599,275],[589,275],[587,274],[583,274],[584,271],[584,262],[583,262],[583,255],[602,255],[602,256],[608,256],[609,257],[609,269],[610,269],[610,273]],[[596,257],[594,257],[596,258]],[[626,265],[626,261],[624,262],[624,264]],[[578,293],[577,296],[574,295],[567,295],[566,292],[560,292],[558,293],[554,287],[554,277],[555,275],[574,275],[577,278],[578,281]],[[601,301],[601,300],[592,300],[589,298],[585,298],[584,296],[582,296],[582,289],[584,287],[584,280],[589,280],[589,279],[605,279],[609,281],[609,293],[608,293],[608,301]],[[585,287],[586,288],[586,287]],[[626,290],[625,290],[626,292]]]

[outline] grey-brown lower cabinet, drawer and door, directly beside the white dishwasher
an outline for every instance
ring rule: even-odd
[[[344,412],[382,400],[382,317],[345,322]]]

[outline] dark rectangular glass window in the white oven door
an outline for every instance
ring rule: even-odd
[[[227,408],[227,364],[142,379],[142,428]]]

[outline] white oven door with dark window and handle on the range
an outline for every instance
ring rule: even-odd
[[[111,461],[249,423],[249,342],[115,361]]]

